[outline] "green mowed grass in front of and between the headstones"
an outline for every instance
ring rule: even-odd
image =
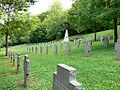
[[[59,43],[57,43],[59,45]],[[40,45],[34,45],[40,47]],[[120,61],[115,60],[116,53],[111,41],[109,47],[104,48],[101,42],[93,42],[89,57],[84,57],[83,44],[79,48],[71,44],[71,54],[66,55],[66,45],[45,54],[27,53],[27,46],[16,46],[10,49],[21,53],[21,69],[17,75],[16,67],[12,67],[6,58],[0,58],[0,90],[52,90],[53,72],[57,64],[67,64],[76,68],[77,81],[82,83],[85,90],[120,90]],[[59,45],[60,46],[60,45]],[[23,56],[30,56],[30,86],[24,89],[23,83]]]

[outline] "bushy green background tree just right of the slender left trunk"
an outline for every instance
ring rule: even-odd
[[[16,14],[11,20],[11,44],[28,43],[30,32],[34,31],[39,23],[37,16],[30,16],[29,13]]]

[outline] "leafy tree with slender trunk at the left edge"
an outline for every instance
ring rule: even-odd
[[[27,11],[27,8],[34,2],[35,0],[0,0],[1,20],[4,20],[6,56],[8,55],[8,36],[11,32],[11,18],[19,11]]]

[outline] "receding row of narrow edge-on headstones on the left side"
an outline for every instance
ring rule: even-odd
[[[17,67],[16,67],[16,73],[19,74],[20,72],[20,61],[21,61],[21,56],[20,54],[15,54],[13,52],[9,52],[8,53],[8,58],[10,60],[10,63],[12,63],[12,66],[15,66],[15,60],[16,60],[16,56],[17,56]],[[25,55],[24,56],[24,63],[23,63],[23,69],[24,69],[24,87],[28,86],[28,82],[29,82],[29,74],[30,74],[30,60],[29,60],[29,56]]]

